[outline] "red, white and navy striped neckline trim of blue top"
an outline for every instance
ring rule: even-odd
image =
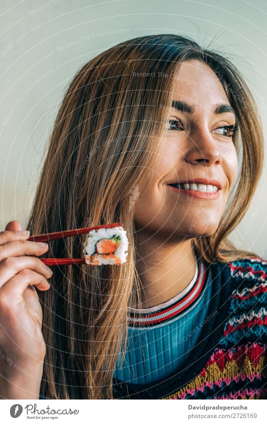
[[[195,274],[190,283],[167,302],[147,309],[128,308],[128,326],[153,327],[172,320],[173,317],[177,317],[191,307],[197,301],[206,279],[204,262],[196,260],[195,268]]]

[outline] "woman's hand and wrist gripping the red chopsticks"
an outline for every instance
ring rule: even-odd
[[[0,399],[38,399],[46,352],[34,286],[50,287],[52,271],[35,257],[48,246],[27,241],[20,230],[10,221],[0,232]]]

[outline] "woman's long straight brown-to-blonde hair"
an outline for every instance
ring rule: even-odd
[[[146,187],[160,155],[158,140],[165,135],[175,82],[165,75],[189,59],[205,62],[218,76],[236,112],[240,131],[233,142],[242,154],[229,206],[212,235],[195,239],[195,249],[207,262],[248,254],[227,236],[254,194],[263,137],[255,102],[235,66],[174,34],[133,38],[85,63],[59,107],[27,229],[41,234],[120,222],[129,248],[121,266],[53,267],[50,289],[38,292],[47,346],[41,393],[48,399],[113,399],[122,340],[123,353],[126,346],[127,307],[140,299],[129,195],[135,185],[140,191]],[[82,257],[84,240],[85,235],[51,241],[43,257]]]

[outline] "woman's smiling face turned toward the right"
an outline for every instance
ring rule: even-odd
[[[218,227],[237,175],[232,130],[222,128],[233,125],[235,115],[225,106],[218,107],[230,104],[206,64],[195,59],[183,62],[175,81],[173,101],[178,109],[178,101],[188,107],[170,109],[167,136],[158,140],[164,143],[163,153],[135,203],[135,224],[137,229],[164,236],[210,235]],[[189,186],[169,185],[175,183]],[[207,185],[218,187],[217,192],[205,192],[212,190]]]

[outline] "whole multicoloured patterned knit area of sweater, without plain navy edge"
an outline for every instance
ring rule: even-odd
[[[231,276],[240,285],[232,292],[231,315],[224,327],[221,346],[192,382],[163,399],[199,399],[199,396],[204,399],[202,395],[210,391],[215,392],[212,399],[261,399],[266,393],[263,387],[263,377],[267,375],[266,344],[258,339],[266,332],[267,324],[267,261],[250,259],[242,264],[234,261],[229,266]],[[242,279],[246,280],[245,286]],[[240,340],[244,342],[240,344]],[[232,391],[224,394],[226,385]]]

